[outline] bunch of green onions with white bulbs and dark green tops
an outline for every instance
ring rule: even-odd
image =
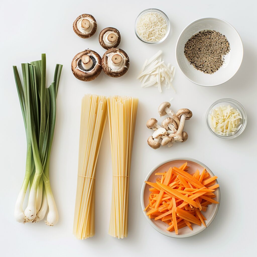
[[[35,222],[45,217],[46,224],[58,222],[58,212],[49,180],[50,153],[56,120],[56,96],[62,65],[57,64],[54,81],[46,88],[46,60],[22,63],[23,86],[13,66],[14,78],[20,100],[27,139],[26,171],[15,205],[18,222]],[[23,212],[23,202],[29,187],[28,205]]]

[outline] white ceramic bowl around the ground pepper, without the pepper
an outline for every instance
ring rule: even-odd
[[[184,54],[185,43],[188,39],[202,30],[218,31],[224,34],[230,43],[230,52],[225,56],[223,66],[214,74],[204,74],[196,70]],[[236,74],[243,59],[243,44],[240,35],[228,22],[219,18],[202,18],[193,21],[181,32],[177,40],[175,55],[178,66],[187,79],[200,86],[212,87],[225,83]]]

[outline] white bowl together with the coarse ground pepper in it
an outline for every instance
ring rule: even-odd
[[[243,59],[243,44],[231,24],[208,17],[185,27],[177,40],[175,55],[187,79],[211,87],[236,74]]]

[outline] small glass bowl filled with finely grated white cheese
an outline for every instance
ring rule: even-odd
[[[135,23],[137,37],[149,44],[162,42],[169,33],[169,19],[158,9],[147,9],[139,14]]]

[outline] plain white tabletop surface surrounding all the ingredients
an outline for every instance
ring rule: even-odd
[[[256,244],[256,5],[253,1],[1,1],[0,6],[0,145],[2,256],[243,256],[254,253]],[[164,11],[171,32],[161,44],[149,46],[134,34],[137,15],[146,8]],[[79,38],[72,23],[82,13],[92,14],[98,25],[90,39]],[[244,58],[237,74],[224,85],[206,88],[192,84],[175,60],[176,40],[183,28],[201,17],[220,17],[240,34]],[[72,58],[87,48],[103,55],[98,42],[108,26],[121,32],[120,48],[130,57],[130,68],[121,78],[102,72],[92,82],[77,80],[70,68]],[[172,90],[159,94],[157,88],[141,88],[136,76],[146,58],[159,49],[164,60],[177,67]],[[50,164],[50,180],[59,222],[19,224],[14,205],[20,190],[26,159],[26,140],[12,65],[47,56],[47,81],[53,79],[56,63],[63,64],[57,97],[57,122]],[[96,235],[84,241],[72,235],[77,183],[80,103],[86,93],[139,97],[131,166],[128,237],[109,236],[111,206],[111,154],[108,124],[100,149],[96,179]],[[146,121],[158,118],[157,107],[169,101],[174,111],[189,108],[187,142],[172,148],[151,149],[146,141],[151,131]],[[203,115],[217,99],[233,98],[246,109],[248,123],[242,135],[221,140],[207,130]],[[160,118],[159,121],[161,122]],[[214,222],[202,233],[185,239],[169,238],[146,221],[140,190],[145,176],[158,163],[173,157],[191,157],[206,164],[219,177],[221,204]]]

